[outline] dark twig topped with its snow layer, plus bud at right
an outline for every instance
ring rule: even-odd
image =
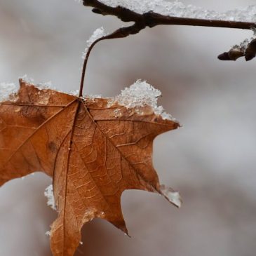
[[[105,39],[126,37],[137,34],[145,27],[158,25],[188,25],[202,27],[227,27],[235,29],[254,29],[256,27],[256,5],[234,9],[224,13],[208,11],[201,7],[184,5],[181,1],[167,0],[83,0],[84,6],[93,7],[93,12],[101,15],[114,15],[123,22],[135,22]],[[246,41],[246,40],[245,40]],[[245,43],[243,43],[244,46]],[[255,41],[248,41],[248,48],[233,48],[219,55],[220,60],[245,60],[255,58]],[[234,54],[235,53],[235,54]]]

